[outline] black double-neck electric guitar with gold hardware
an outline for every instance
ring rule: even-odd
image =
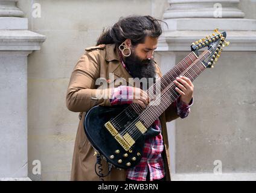
[[[194,42],[190,54],[147,90],[159,94],[149,95],[150,104],[145,108],[130,104],[95,106],[88,111],[84,120],[85,133],[97,153],[108,163],[124,169],[139,163],[145,139],[159,134],[150,126],[179,97],[174,89],[175,78],[183,75],[191,81],[195,80],[205,68],[213,67],[222,48],[229,44],[225,41],[226,32],[214,31],[217,35]],[[202,48],[206,49],[199,55],[198,51]]]

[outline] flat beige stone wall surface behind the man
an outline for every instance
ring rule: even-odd
[[[32,15],[35,3],[41,6],[39,18]],[[103,27],[129,14],[161,19],[168,2],[20,0],[18,7],[29,30],[46,36],[40,51],[28,57],[28,176],[69,180],[78,113],[66,109],[65,94],[75,63]],[[238,8],[256,19],[255,1],[243,0]],[[174,62],[186,53],[179,52]],[[176,124],[172,168],[178,174],[211,173],[214,160],[222,160],[223,172],[255,172],[255,52],[223,51],[220,64],[210,71],[194,83],[190,116],[169,124]],[[32,173],[33,160],[42,164],[40,175]]]

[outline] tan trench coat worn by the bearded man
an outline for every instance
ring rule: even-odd
[[[128,81],[130,74],[120,63],[118,51],[115,45],[99,45],[87,48],[85,54],[78,60],[72,72],[68,90],[66,93],[66,106],[72,112],[80,112],[80,121],[78,124],[77,136],[75,139],[74,154],[72,160],[71,180],[99,180],[95,174],[94,166],[96,156],[83,129],[83,119],[86,112],[96,105],[110,106],[108,99],[97,100],[95,98],[95,80],[99,77],[109,79],[109,73],[113,73],[114,79],[123,77]],[[159,67],[156,66],[156,74],[162,76]],[[82,118],[81,118],[82,116]],[[164,139],[164,163],[166,179],[170,180],[170,156],[167,138],[166,122],[178,118],[176,109],[173,106],[168,107],[160,116],[162,126],[162,136]],[[107,172],[107,164],[103,162],[103,173]],[[124,169],[112,168],[109,176],[104,180],[125,180],[126,171]]]

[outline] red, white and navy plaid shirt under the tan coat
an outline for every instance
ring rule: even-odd
[[[119,86],[112,90],[112,97],[110,98],[111,105],[130,104],[132,103],[133,87]],[[185,118],[190,113],[190,106],[193,104],[183,103],[180,98],[174,101],[174,106],[177,107],[177,113],[181,118]],[[161,123],[159,118],[152,124],[156,130],[161,130]],[[147,172],[150,174],[150,181],[162,179],[165,176],[164,160],[161,153],[164,150],[164,142],[162,134],[153,138],[148,138],[145,141],[144,150],[141,161],[135,167],[127,170],[127,178],[136,181],[146,181]]]

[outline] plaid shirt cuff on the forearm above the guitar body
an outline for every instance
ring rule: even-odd
[[[118,86],[112,89],[110,104],[131,104],[133,101],[133,87]]]

